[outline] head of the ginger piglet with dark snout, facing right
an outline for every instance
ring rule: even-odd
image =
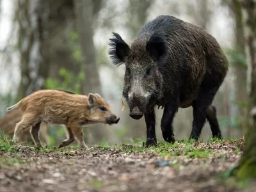
[[[88,106],[90,108],[90,119],[95,123],[117,124],[120,118],[112,113],[109,104],[98,93],[89,93]]]

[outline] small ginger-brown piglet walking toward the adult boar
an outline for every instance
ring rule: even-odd
[[[120,120],[98,93],[89,93],[87,96],[61,90],[40,90],[24,97],[6,111],[15,108],[21,109],[22,119],[16,124],[13,141],[20,143],[21,133],[31,127],[30,134],[36,147],[42,147],[39,138],[41,122],[66,126],[68,138],[61,142],[59,148],[69,145],[75,139],[80,148],[88,148],[84,143],[82,125],[111,125]]]

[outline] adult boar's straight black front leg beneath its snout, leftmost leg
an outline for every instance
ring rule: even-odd
[[[146,141],[146,147],[150,147],[152,145],[156,145],[156,118],[155,118],[155,111],[151,113],[145,113],[145,122],[147,125],[147,141]]]

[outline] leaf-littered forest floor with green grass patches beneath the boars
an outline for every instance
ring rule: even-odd
[[[36,149],[0,140],[0,191],[256,191],[227,177],[243,140]]]

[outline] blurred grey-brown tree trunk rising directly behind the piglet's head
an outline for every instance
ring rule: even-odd
[[[95,45],[93,42],[93,13],[100,9],[99,3],[101,1],[92,0],[76,0],[74,5],[76,14],[76,27],[79,36],[79,45],[82,55],[84,81],[82,83],[81,92],[88,95],[88,93],[99,93],[104,97],[99,79],[99,72],[95,58]],[[95,4],[96,3],[96,4]],[[97,8],[95,7],[97,5]],[[90,125],[86,136],[87,143],[107,140],[108,131],[106,125],[97,124]]]

